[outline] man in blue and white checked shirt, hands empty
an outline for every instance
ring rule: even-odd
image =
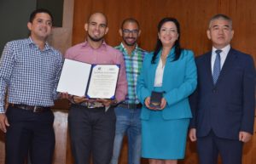
[[[37,9],[27,23],[30,37],[8,42],[0,61],[0,129],[6,133],[6,164],[51,164],[54,115],[62,55],[46,42],[52,15]],[[8,93],[9,107],[4,109]]]

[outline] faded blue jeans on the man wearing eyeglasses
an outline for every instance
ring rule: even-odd
[[[128,138],[128,164],[140,164],[141,159],[141,109],[116,107],[116,130],[113,143],[113,157],[110,164],[118,164],[122,141]]]

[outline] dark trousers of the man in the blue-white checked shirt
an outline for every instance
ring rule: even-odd
[[[32,164],[51,164],[55,149],[51,110],[33,113],[9,106],[5,164],[24,164],[28,151]]]

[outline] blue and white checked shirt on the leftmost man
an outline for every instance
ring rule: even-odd
[[[0,61],[0,113],[7,90],[9,103],[54,105],[62,61],[48,43],[40,50],[30,37],[8,42]]]

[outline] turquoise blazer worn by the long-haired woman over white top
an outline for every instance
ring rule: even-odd
[[[141,119],[148,120],[152,110],[144,105],[144,100],[154,90],[154,76],[160,60],[160,53],[151,63],[153,53],[146,54],[143,59],[143,68],[137,77],[137,97],[143,104]],[[189,95],[195,91],[197,75],[195,57],[192,51],[183,49],[180,58],[174,59],[174,48],[166,59],[166,67],[163,75],[162,89],[166,99],[166,108],[162,112],[163,119],[191,118],[189,107]]]

